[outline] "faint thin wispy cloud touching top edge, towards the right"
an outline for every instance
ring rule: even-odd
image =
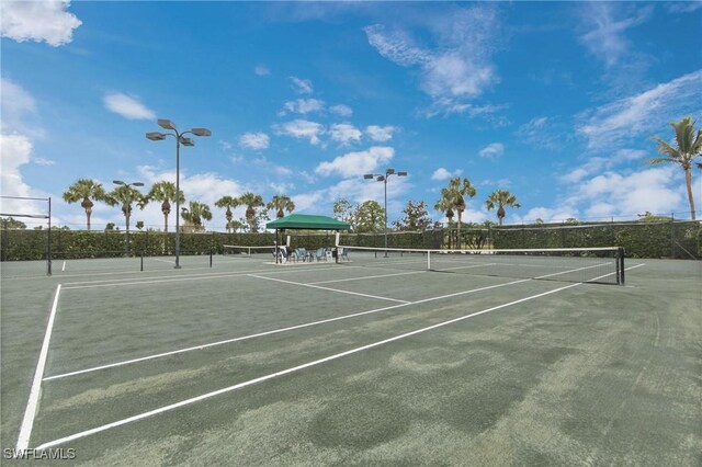
[[[618,65],[630,53],[631,44],[624,36],[626,30],[637,26],[650,18],[652,7],[638,9],[634,13],[621,12],[620,5],[604,2],[588,2],[580,15],[587,33],[580,41],[596,57],[608,67]],[[624,16],[616,19],[615,16]]]

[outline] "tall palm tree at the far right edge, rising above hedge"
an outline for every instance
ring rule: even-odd
[[[648,163],[677,163],[684,170],[684,183],[688,187],[688,201],[690,202],[690,215],[694,220],[694,198],[692,197],[692,163],[693,160],[702,156],[702,129],[694,134],[694,123],[691,117],[684,117],[680,122],[670,122],[670,126],[676,132],[676,147],[667,141],[654,137],[658,143],[658,152],[667,157],[655,157],[648,159]],[[700,167],[698,164],[698,167]]]

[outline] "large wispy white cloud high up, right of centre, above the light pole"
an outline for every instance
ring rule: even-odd
[[[399,29],[375,24],[364,31],[383,57],[421,70],[419,87],[431,96],[433,113],[464,113],[472,109],[468,101],[499,81],[490,61],[499,37],[497,11],[486,4],[456,8],[430,22],[433,47],[417,45]]]

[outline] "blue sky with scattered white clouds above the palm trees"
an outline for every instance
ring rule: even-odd
[[[686,217],[682,171],[645,159],[669,122],[702,115],[701,7],[3,1],[1,191],[52,196],[54,221],[80,228],[60,200],[77,179],[174,180],[173,139],[144,137],[170,118],[212,130],[181,151],[207,228],[225,225],[215,200],[246,191],[301,213],[382,203],[362,175],[386,168],[409,172],[389,179],[390,221],[456,175],[478,192],[468,221],[495,218],[497,189],[522,205],[507,224]],[[157,205],[136,220],[162,226]],[[101,204],[92,221],[124,224]]]

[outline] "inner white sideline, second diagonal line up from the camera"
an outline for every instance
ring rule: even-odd
[[[146,362],[146,361],[149,361],[149,360],[160,358],[160,357],[163,357],[163,356],[177,355],[177,354],[180,354],[180,353],[204,350],[204,349],[207,349],[207,348],[213,348],[213,346],[217,346],[217,345],[224,345],[224,344],[228,344],[228,343],[231,343],[231,342],[245,341],[245,340],[249,340],[249,339],[261,338],[261,337],[264,337],[264,335],[271,335],[271,334],[278,334],[278,333],[281,333],[281,332],[293,331],[293,330],[296,330],[296,329],[310,328],[313,326],[325,324],[325,323],[328,323],[328,322],[341,321],[343,319],[355,318],[355,317],[359,317],[359,316],[372,315],[372,314],[376,314],[376,312],[381,312],[381,311],[387,311],[387,310],[395,309],[395,308],[407,307],[409,305],[424,304],[427,301],[440,300],[440,299],[444,299],[444,298],[452,298],[452,297],[455,297],[455,296],[458,296],[458,295],[474,294],[476,292],[483,292],[483,291],[489,291],[491,288],[505,287],[507,285],[519,284],[521,282],[526,282],[526,281],[530,281],[530,280],[522,278],[522,280],[519,280],[519,281],[512,281],[512,282],[508,282],[508,283],[505,283],[505,284],[488,285],[488,286],[485,286],[485,287],[472,288],[469,291],[456,292],[454,294],[441,295],[441,296],[431,297],[431,298],[423,298],[423,299],[418,300],[418,301],[398,304],[398,305],[390,305],[390,306],[387,306],[387,307],[375,308],[375,309],[367,310],[367,311],[354,312],[352,315],[343,315],[343,316],[339,316],[339,317],[336,317],[336,318],[328,318],[328,319],[322,319],[322,320],[319,320],[319,321],[313,321],[313,322],[306,322],[306,323],[303,323],[303,324],[291,326],[288,328],[274,329],[272,331],[263,331],[263,332],[259,332],[259,333],[256,333],[256,334],[242,335],[242,337],[239,337],[239,338],[227,339],[227,340],[224,340],[224,341],[212,342],[212,343],[201,344],[201,345],[193,345],[193,346],[185,348],[185,349],[179,349],[179,350],[174,350],[174,351],[170,351],[170,352],[163,352],[163,353],[158,353],[158,354],[154,354],[154,355],[147,355],[147,356],[143,356],[143,357],[139,357],[139,358],[125,360],[123,362],[111,363],[111,364],[107,364],[107,365],[95,366],[95,367],[87,368],[87,369],[79,369],[77,372],[70,372],[70,373],[64,373],[64,374],[60,374],[60,375],[47,376],[46,378],[44,378],[44,380],[48,381],[48,380],[52,380],[52,379],[67,378],[67,377],[70,377],[70,376],[77,376],[77,375],[82,375],[82,374],[86,374],[86,373],[98,372],[100,369],[114,368],[116,366],[124,366],[124,365],[129,365],[129,364],[133,364],[133,363]]]

